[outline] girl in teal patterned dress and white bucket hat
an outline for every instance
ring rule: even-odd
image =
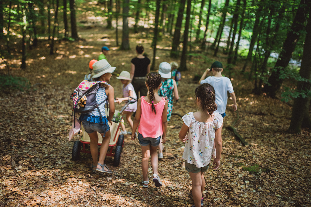
[[[162,86],[158,91],[160,97],[164,97],[168,102],[167,106],[167,121],[171,119],[172,110],[173,110],[173,99],[178,100],[178,90],[177,83],[174,79],[170,79],[171,75],[171,65],[168,62],[161,62],[159,65],[159,74],[162,78]],[[174,96],[173,96],[174,93]],[[163,144],[162,140],[159,144],[159,158],[163,158]]]

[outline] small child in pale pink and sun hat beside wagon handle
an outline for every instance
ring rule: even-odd
[[[123,90],[123,98],[116,98],[116,102],[118,102],[119,104],[122,101],[128,101],[128,100],[132,100],[133,97],[134,99],[137,99],[134,87],[132,85],[132,83],[130,83],[131,78],[130,78],[130,73],[128,71],[123,70],[119,77],[117,77],[117,79],[120,79],[121,83],[123,84],[122,90]],[[132,103],[129,104],[128,107],[126,107],[126,109],[123,111],[123,115],[126,115],[126,120],[128,121],[128,124],[130,124],[131,129],[133,128],[133,121],[131,119],[131,116],[133,114],[133,112],[135,112],[137,109],[137,103]],[[122,129],[121,130],[121,134],[127,134],[127,131],[125,129],[124,124],[122,123]]]

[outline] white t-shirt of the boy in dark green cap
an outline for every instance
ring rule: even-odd
[[[211,84],[215,89],[215,95],[216,95],[216,104],[217,104],[217,110],[215,112],[223,114],[226,112],[226,106],[228,102],[228,94],[233,93],[233,86],[229,78],[227,77],[214,77],[214,76],[208,76],[206,79],[201,81],[202,83],[209,83]]]

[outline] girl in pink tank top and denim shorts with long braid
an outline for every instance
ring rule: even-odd
[[[151,156],[153,179],[156,187],[162,186],[158,175],[157,148],[162,135],[166,141],[167,101],[158,95],[161,86],[161,75],[151,72],[146,76],[146,86],[149,94],[137,101],[137,111],[133,122],[132,140],[135,140],[138,124],[138,140],[142,146],[142,187],[148,187],[148,161]]]

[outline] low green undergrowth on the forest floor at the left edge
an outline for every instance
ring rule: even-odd
[[[22,77],[0,75],[0,89],[5,93],[10,91],[25,91],[30,88],[30,81]]]

